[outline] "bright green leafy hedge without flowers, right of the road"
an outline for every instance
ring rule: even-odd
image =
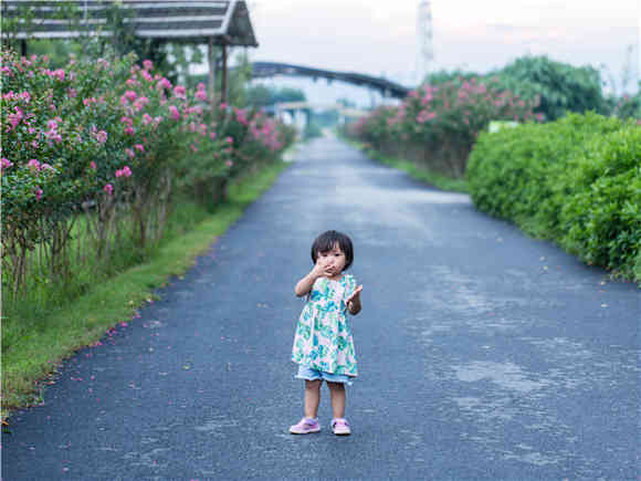
[[[641,126],[595,113],[482,134],[466,176],[477,209],[641,281]]]

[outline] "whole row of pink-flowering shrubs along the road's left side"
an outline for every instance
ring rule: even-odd
[[[225,108],[208,114],[204,85],[172,85],[134,56],[51,70],[45,57],[4,51],[0,75],[3,283],[13,293],[36,247],[49,252],[42,268],[53,279],[71,274],[65,245],[83,207],[95,206],[87,219],[98,257],[116,248],[124,216],[133,217],[130,236],[144,250],[162,236],[176,189],[198,198],[197,186],[284,147],[272,121],[227,118]],[[248,138],[254,150],[243,143],[251,126],[261,132]]]

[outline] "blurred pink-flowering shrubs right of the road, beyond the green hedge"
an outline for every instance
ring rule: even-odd
[[[376,109],[350,133],[386,154],[462,177],[476,136],[491,121],[542,122],[533,114],[536,104],[502,91],[497,79],[459,79],[421,85],[400,106]]]

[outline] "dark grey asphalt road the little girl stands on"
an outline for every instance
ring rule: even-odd
[[[294,437],[295,282],[351,236],[354,433]],[[334,138],[2,437],[4,480],[637,480],[641,293]]]

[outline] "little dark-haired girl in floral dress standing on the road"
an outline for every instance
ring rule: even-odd
[[[297,378],[305,379],[305,417],[290,428],[293,435],[318,432],[316,418],[320,385],[327,381],[332,396],[332,429],[335,435],[351,433],[345,419],[345,384],[357,376],[351,330],[346,311],[360,312],[360,291],[356,280],[343,271],[351,265],[354,249],[344,233],[329,230],[312,244],[312,271],[298,281],[294,292],[307,295],[296,327],[292,360],[298,364]]]

